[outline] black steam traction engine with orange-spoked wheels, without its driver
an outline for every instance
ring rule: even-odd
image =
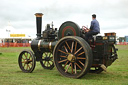
[[[115,33],[95,36],[84,40],[85,33],[71,21],[64,22],[59,30],[46,25],[41,34],[42,13],[36,13],[37,38],[31,43],[31,49],[23,50],[18,58],[23,72],[31,73],[39,61],[44,69],[53,69],[54,65],[61,75],[80,78],[88,72],[106,71],[117,59]]]

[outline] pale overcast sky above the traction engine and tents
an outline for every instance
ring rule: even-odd
[[[20,33],[36,37],[35,13],[43,13],[42,31],[53,21],[58,28],[65,21],[90,27],[96,14],[101,35],[116,32],[128,36],[128,0],[0,0],[0,30],[8,23]],[[1,31],[2,32],[2,31]],[[2,33],[1,33],[2,34]]]

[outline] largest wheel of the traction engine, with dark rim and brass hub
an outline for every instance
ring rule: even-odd
[[[77,36],[67,36],[58,41],[54,51],[54,62],[61,75],[80,78],[92,65],[92,51],[88,43]]]

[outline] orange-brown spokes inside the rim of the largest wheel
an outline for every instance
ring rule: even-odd
[[[77,47],[79,47],[79,49]],[[74,61],[70,60],[69,54],[74,55]],[[77,74],[84,68],[86,60],[85,52],[80,44],[75,41],[65,41],[58,50],[58,57],[58,63],[62,66],[65,73]]]

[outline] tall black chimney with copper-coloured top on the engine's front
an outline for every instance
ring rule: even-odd
[[[37,28],[37,39],[41,39],[41,29],[42,29],[42,13],[36,13],[36,28]]]

